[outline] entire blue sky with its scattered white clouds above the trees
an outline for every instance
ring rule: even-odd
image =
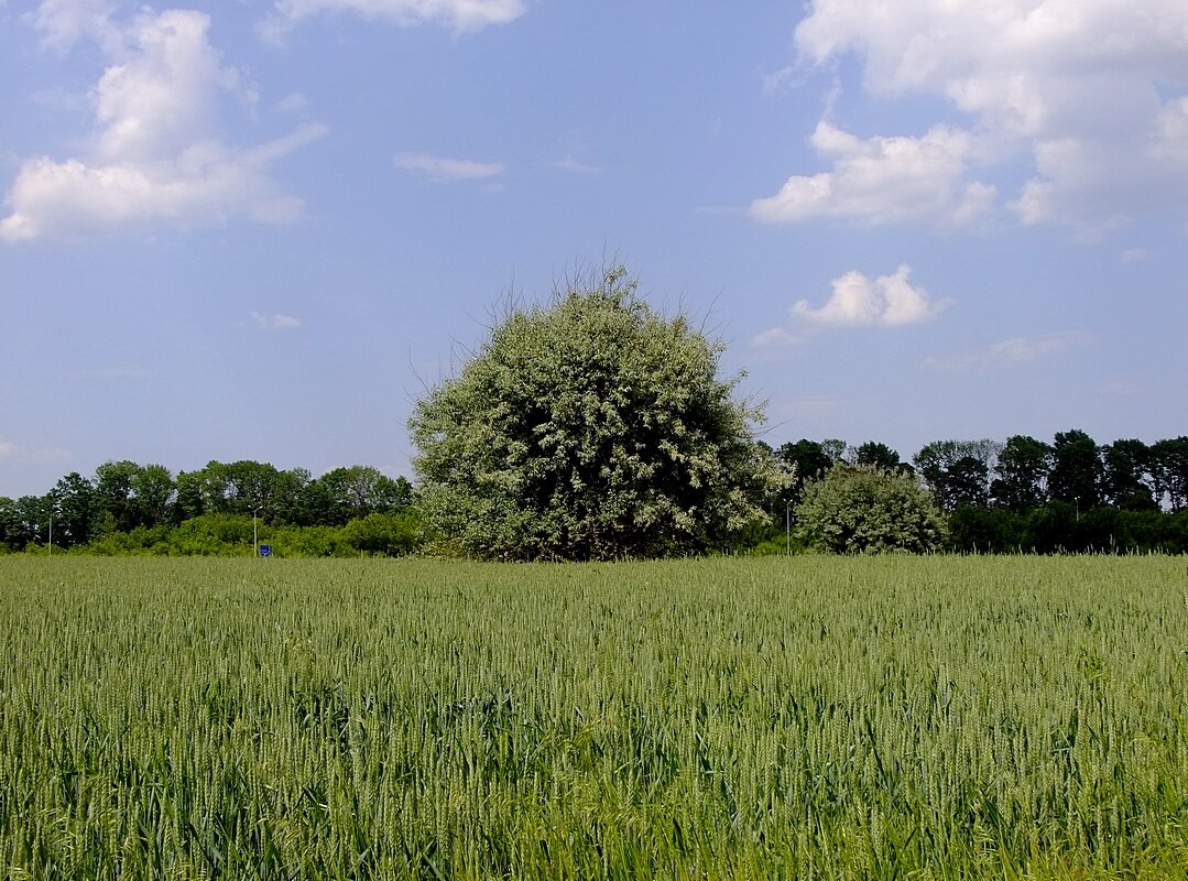
[[[1183,0],[0,0],[0,495],[411,474],[604,259],[766,439],[1188,433]]]

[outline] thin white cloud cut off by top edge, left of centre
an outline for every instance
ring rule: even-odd
[[[352,13],[400,26],[446,25],[454,31],[481,31],[524,14],[525,0],[277,0],[260,25],[265,39],[284,38],[297,23],[324,13]]]

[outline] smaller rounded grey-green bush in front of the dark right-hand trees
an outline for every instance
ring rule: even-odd
[[[915,477],[846,464],[805,486],[796,520],[810,547],[842,554],[935,550],[946,529]]]

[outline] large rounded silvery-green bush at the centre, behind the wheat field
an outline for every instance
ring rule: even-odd
[[[429,521],[479,558],[598,560],[700,552],[762,520],[779,473],[721,352],[621,269],[512,310],[410,420]]]

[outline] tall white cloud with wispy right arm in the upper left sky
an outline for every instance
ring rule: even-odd
[[[270,166],[322,137],[324,126],[308,122],[251,147],[222,143],[216,132],[223,99],[253,95],[210,45],[209,17],[145,11],[116,25],[102,10],[88,0],[40,7],[36,21],[48,42],[91,39],[109,63],[91,92],[95,127],[86,155],[26,161],[8,191],[11,213],[0,220],[0,238],[297,216],[302,202],[276,185]]]

